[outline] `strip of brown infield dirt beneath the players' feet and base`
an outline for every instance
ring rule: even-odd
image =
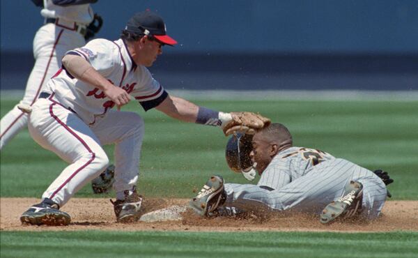
[[[67,227],[24,226],[20,215],[39,202],[34,198],[1,198],[0,230],[118,230],[118,231],[196,231],[196,232],[245,232],[245,231],[335,231],[335,232],[389,232],[398,230],[418,231],[418,202],[389,201],[382,216],[373,222],[335,222],[320,225],[318,218],[306,214],[275,214],[269,218],[199,218],[191,211],[183,213],[183,220],[169,222],[117,223],[109,199],[73,198],[62,211],[70,213],[72,222]],[[144,213],[171,205],[185,205],[187,199],[146,199]]]

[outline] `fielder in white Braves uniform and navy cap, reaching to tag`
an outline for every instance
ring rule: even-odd
[[[119,40],[91,40],[65,54],[63,68],[32,105],[29,132],[69,165],[43,193],[42,202],[22,214],[22,223],[68,225],[70,215],[59,208],[107,167],[105,144],[115,144],[116,201],[112,203],[116,219],[137,220],[142,202],[136,185],[144,120],[137,113],[113,109],[131,98],[145,111],[155,108],[181,121],[222,128],[236,123],[235,113],[216,112],[170,96],[151,76],[146,67],[162,54],[163,45],[175,44],[162,18],[145,11],[127,22]],[[263,123],[255,120],[257,125]]]

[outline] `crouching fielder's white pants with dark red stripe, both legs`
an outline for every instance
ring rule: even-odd
[[[89,127],[77,114],[51,97],[40,98],[29,115],[29,132],[45,149],[70,165],[49,185],[43,198],[63,206],[86,183],[98,176],[109,163],[102,145],[115,144],[114,190],[132,190],[139,176],[139,155],[144,121],[134,112],[109,111]]]

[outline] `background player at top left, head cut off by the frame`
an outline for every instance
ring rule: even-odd
[[[86,44],[86,26],[93,21],[90,3],[97,0],[33,1],[43,6],[40,14],[45,24],[33,39],[35,65],[26,84],[24,97],[18,105],[33,105],[49,78],[61,68],[65,52]],[[0,121],[0,149],[27,124],[28,116],[16,105]]]

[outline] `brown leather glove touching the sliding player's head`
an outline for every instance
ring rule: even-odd
[[[222,128],[226,136],[234,132],[240,132],[247,135],[254,135],[257,130],[269,126],[271,121],[261,114],[253,112],[231,112],[232,120]]]

